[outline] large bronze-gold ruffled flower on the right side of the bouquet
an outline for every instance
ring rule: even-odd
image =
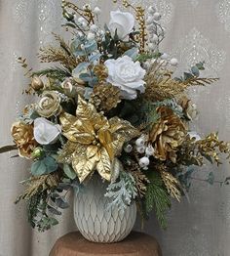
[[[162,161],[176,162],[176,150],[186,137],[186,126],[169,107],[158,107],[159,121],[149,133],[149,141],[154,148],[154,156]]]

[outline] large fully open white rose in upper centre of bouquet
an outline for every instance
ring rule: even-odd
[[[128,56],[117,60],[107,60],[105,63],[108,68],[107,81],[121,90],[122,97],[127,100],[136,98],[136,90],[143,93],[145,82],[142,80],[145,70],[139,62],[135,62]]]

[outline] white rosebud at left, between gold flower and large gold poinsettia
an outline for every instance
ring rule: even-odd
[[[48,121],[46,118],[39,117],[34,120],[34,139],[40,145],[56,143],[60,132],[60,126]]]

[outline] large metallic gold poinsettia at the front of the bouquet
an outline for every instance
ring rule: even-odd
[[[118,117],[108,120],[80,96],[76,116],[63,112],[59,120],[63,136],[68,139],[63,154],[71,154],[73,169],[81,183],[95,170],[110,181],[115,157],[121,153],[124,143],[139,133],[128,121]]]

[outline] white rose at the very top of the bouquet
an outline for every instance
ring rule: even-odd
[[[125,39],[134,29],[134,16],[120,10],[110,12],[108,28],[112,36],[117,35],[119,39]]]

